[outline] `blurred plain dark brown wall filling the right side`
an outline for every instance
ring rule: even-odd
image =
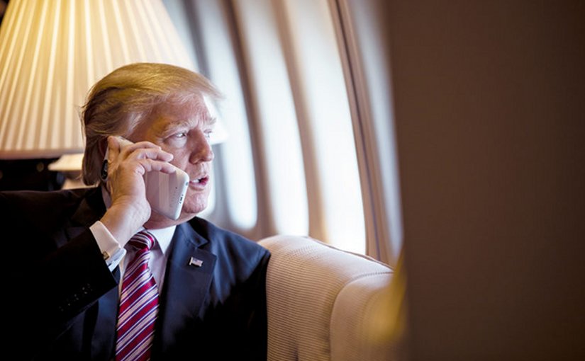
[[[585,4],[385,13],[409,360],[585,360]]]

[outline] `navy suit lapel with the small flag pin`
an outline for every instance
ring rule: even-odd
[[[155,352],[164,354],[173,348],[177,335],[187,326],[186,320],[199,315],[216,264],[216,255],[201,248],[207,242],[188,223],[179,224],[174,232],[160,300]]]

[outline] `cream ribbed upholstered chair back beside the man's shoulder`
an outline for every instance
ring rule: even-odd
[[[375,320],[393,271],[301,236],[260,241],[267,273],[268,360],[389,360]],[[381,313],[383,314],[383,312]]]

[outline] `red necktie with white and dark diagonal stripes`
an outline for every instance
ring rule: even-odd
[[[137,251],[126,265],[122,280],[116,328],[116,361],[150,360],[158,314],[158,288],[148,268],[155,236],[143,230],[135,234],[128,244]]]

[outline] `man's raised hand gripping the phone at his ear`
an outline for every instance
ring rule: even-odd
[[[106,188],[112,203],[101,222],[121,246],[150,218],[145,173],[173,173],[174,168],[169,164],[172,158],[172,154],[151,142],[134,144],[123,138],[108,137]]]

